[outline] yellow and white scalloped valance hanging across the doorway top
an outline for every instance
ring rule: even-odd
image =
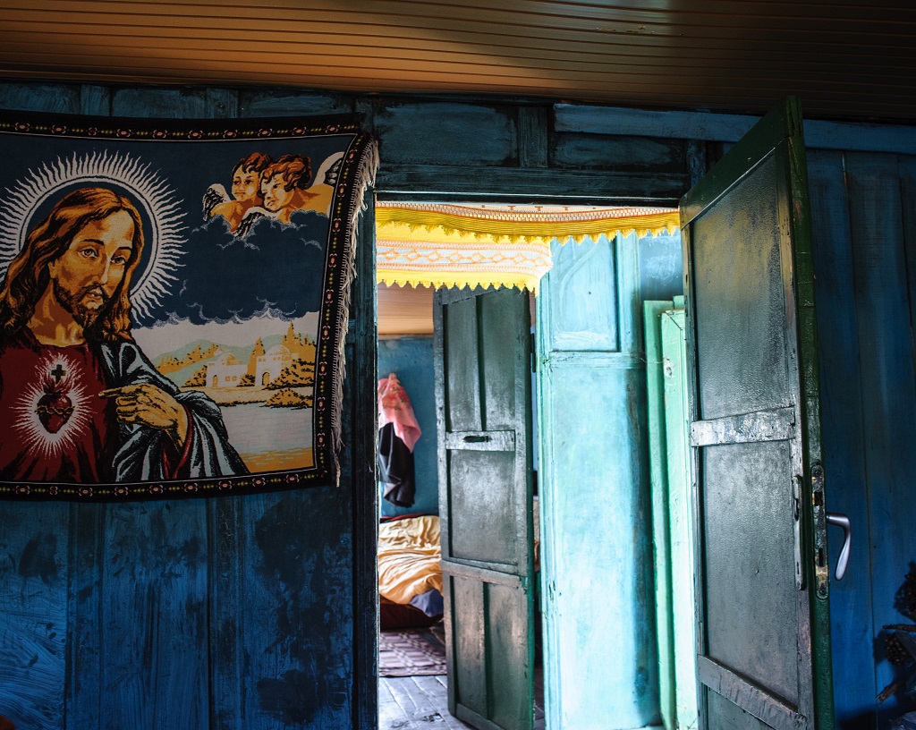
[[[385,284],[537,291],[551,241],[673,233],[668,208],[378,203],[376,278]]]

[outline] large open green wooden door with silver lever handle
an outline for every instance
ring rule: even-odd
[[[834,727],[802,120],[788,100],[681,202],[701,718]]]

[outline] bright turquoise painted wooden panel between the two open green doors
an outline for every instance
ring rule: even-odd
[[[538,300],[545,714],[658,723],[635,242],[553,246]]]

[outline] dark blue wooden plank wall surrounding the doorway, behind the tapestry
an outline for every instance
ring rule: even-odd
[[[673,204],[717,145],[753,121],[538,100],[51,82],[0,83],[0,108],[226,118],[356,111],[382,140],[376,190],[389,200],[586,204]],[[846,727],[877,728],[883,718],[873,698],[890,671],[879,652],[876,669],[875,639],[897,618],[893,593],[916,559],[909,448],[916,135],[827,122],[807,131],[828,507],[849,512],[856,528],[850,574],[834,585],[835,696]],[[340,488],[152,505],[0,506],[0,713],[38,730],[374,726],[371,225],[364,233]],[[651,294],[659,296],[668,294]],[[582,386],[570,402],[581,396]],[[624,563],[622,580],[650,582],[645,559],[640,549]],[[596,625],[603,620],[596,616]],[[651,637],[626,638],[638,664]],[[586,635],[571,640],[583,661],[605,650]],[[605,685],[628,692],[629,716],[653,714],[648,671],[629,689]]]

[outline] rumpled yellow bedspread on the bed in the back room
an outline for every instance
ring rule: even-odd
[[[431,588],[442,592],[439,534],[434,515],[379,525],[378,593],[383,598],[406,605]]]

